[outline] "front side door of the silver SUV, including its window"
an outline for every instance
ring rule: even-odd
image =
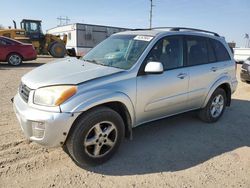
[[[181,36],[165,37],[153,47],[142,66],[161,62],[164,72],[138,74],[137,125],[187,110],[189,73],[183,59]]]

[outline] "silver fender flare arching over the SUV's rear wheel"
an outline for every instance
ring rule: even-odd
[[[225,75],[225,76],[219,78],[219,79],[210,87],[209,92],[208,92],[208,94],[207,94],[207,96],[206,96],[206,98],[205,98],[205,101],[204,101],[204,103],[203,103],[203,105],[202,105],[201,108],[204,108],[204,107],[207,105],[207,103],[208,103],[210,97],[212,96],[212,94],[214,93],[214,91],[215,91],[220,85],[222,85],[222,84],[228,84],[228,85],[230,86],[230,90],[232,90],[232,84],[231,84],[231,82],[229,82],[229,80],[231,80],[231,79],[230,79],[230,77],[227,76],[227,75]]]

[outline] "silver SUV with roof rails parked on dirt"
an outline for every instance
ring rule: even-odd
[[[30,140],[62,146],[80,166],[100,164],[146,122],[191,110],[217,121],[230,105],[235,74],[231,50],[216,33],[126,31],[80,59],[24,75],[14,110]]]

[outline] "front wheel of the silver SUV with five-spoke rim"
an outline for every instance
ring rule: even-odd
[[[80,167],[102,164],[119,148],[124,130],[124,122],[116,111],[94,108],[74,123],[66,141],[67,151]]]

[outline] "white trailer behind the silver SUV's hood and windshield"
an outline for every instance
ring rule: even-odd
[[[47,33],[64,36],[67,35],[66,49],[74,52],[76,56],[83,56],[91,48],[109,37],[110,35],[128,30],[127,28],[91,25],[69,24],[47,30]]]

